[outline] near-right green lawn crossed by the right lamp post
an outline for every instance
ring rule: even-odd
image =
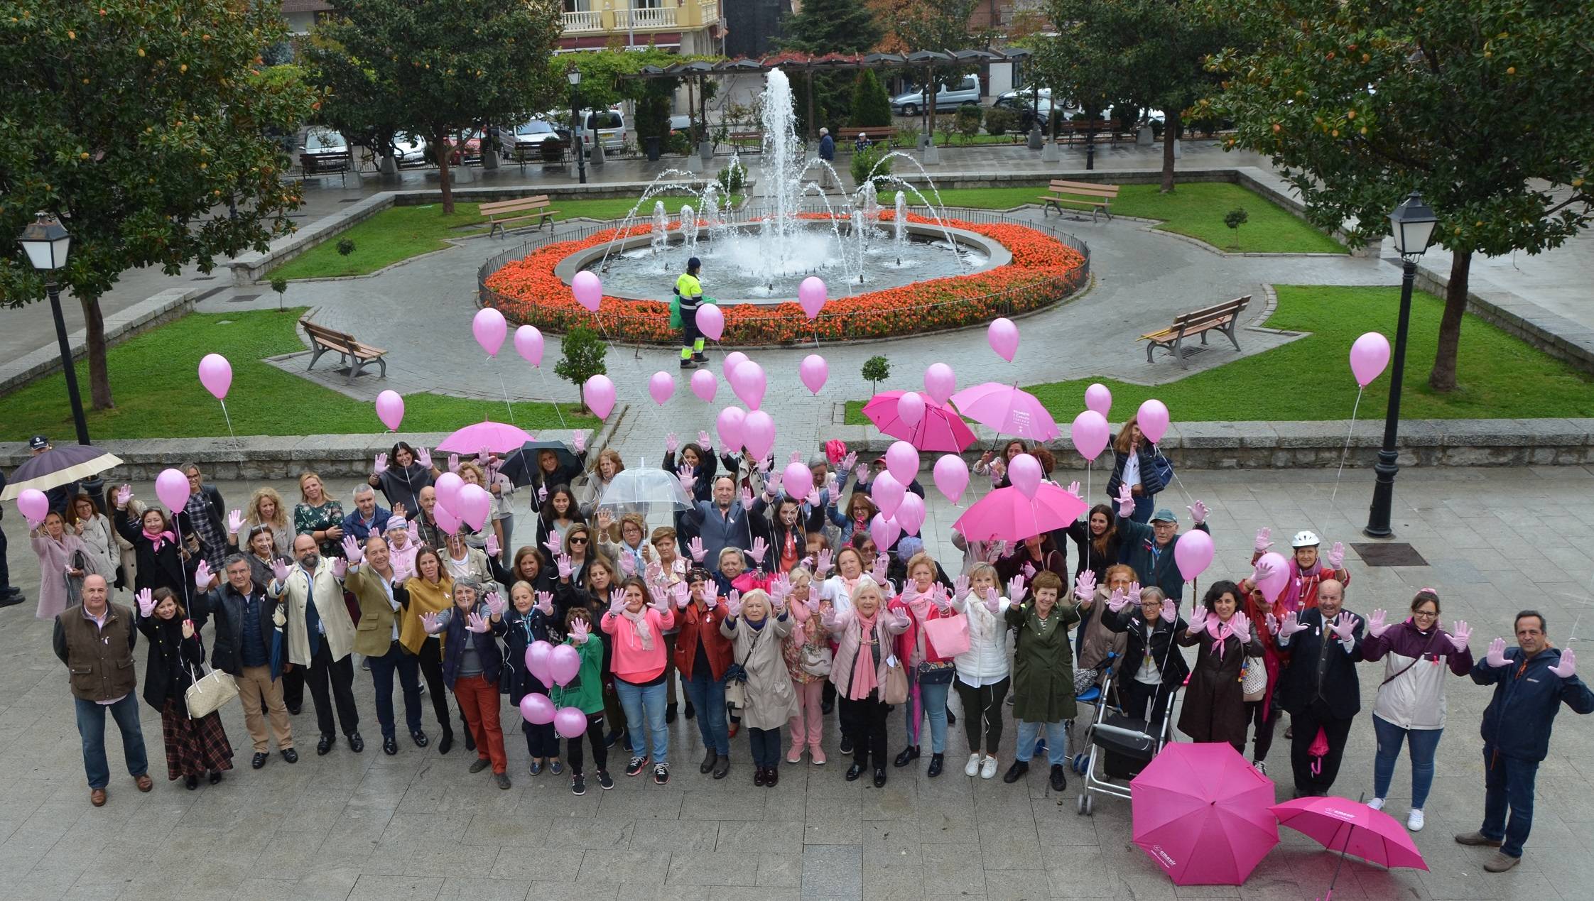
[[[1266,325],[1309,331],[1307,337],[1245,357],[1216,369],[1143,387],[1113,379],[1078,379],[1035,385],[1066,435],[1068,422],[1084,409],[1086,387],[1100,380],[1113,392],[1114,422],[1122,422],[1146,398],[1168,404],[1173,420],[1305,420],[1350,419],[1356,382],[1350,376],[1350,345],[1371,330],[1395,334],[1400,288],[1278,287],[1278,309]],[[1417,291],[1412,299],[1411,344],[1401,415],[1406,419],[1541,419],[1594,415],[1594,377],[1554,360],[1525,341],[1468,314],[1462,320],[1457,372],[1460,387],[1441,395],[1428,388],[1433,347],[1438,344],[1444,302]],[[1254,336],[1253,336],[1254,339]],[[1247,336],[1240,333],[1240,344]],[[1211,339],[1216,357],[1234,349],[1221,336]],[[1140,345],[1137,345],[1138,349]],[[1138,350],[1125,349],[1125,353]],[[1167,376],[1178,365],[1157,353],[1156,372]],[[1148,368],[1148,374],[1152,369]],[[1524,390],[1529,388],[1525,393]],[[1388,371],[1368,385],[1361,419],[1382,419],[1388,403]],[[846,404],[846,422],[866,423],[862,403]]]

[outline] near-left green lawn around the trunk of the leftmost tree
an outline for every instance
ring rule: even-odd
[[[116,408],[89,411],[94,438],[188,438],[226,435],[222,406],[199,385],[199,358],[220,353],[233,365],[233,387],[226,409],[238,435],[332,435],[379,433],[375,408],[284,372],[261,360],[303,350],[293,323],[304,307],[245,310],[234,314],[190,314],[171,325],[147,331],[110,349],[110,387]],[[523,368],[513,353],[501,353],[507,371]],[[306,358],[308,361],[308,358]],[[336,357],[322,357],[317,371],[332,368]],[[303,361],[295,361],[303,366]],[[461,366],[480,366],[477,358]],[[550,366],[552,368],[552,366]],[[524,376],[524,372],[521,372]],[[78,366],[83,404],[88,406],[88,368]],[[363,377],[363,376],[362,376]],[[553,379],[553,376],[548,376]],[[489,379],[491,380],[491,379]],[[571,395],[574,387],[566,385]],[[59,372],[35,380],[0,398],[0,422],[13,435],[70,435],[72,412],[65,398],[65,377]],[[571,427],[596,427],[590,415],[574,415],[575,404],[564,404]],[[405,431],[453,431],[483,419],[505,420],[502,403],[416,393],[405,396]],[[515,422],[521,428],[558,428],[553,404],[518,403]]]

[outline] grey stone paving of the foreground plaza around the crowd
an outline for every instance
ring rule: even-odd
[[[628,454],[630,455],[630,454]],[[977,479],[979,481],[979,479]],[[1218,543],[1213,575],[1240,575],[1251,536],[1310,527],[1325,541],[1356,541],[1371,473],[1347,471],[1334,492],[1331,471],[1184,471],[1183,489],[1211,508]],[[223,482],[230,505],[257,486]],[[276,484],[287,497],[290,484]],[[343,497],[347,484],[328,486]],[[153,497],[151,486],[135,486]],[[1095,498],[1092,498],[1095,500]],[[1180,509],[1191,498],[1164,495]],[[1474,627],[1473,649],[1505,635],[1517,608],[1549,618],[1559,646],[1594,632],[1594,471],[1589,468],[1409,470],[1395,495],[1396,538],[1427,567],[1368,568],[1347,556],[1353,579],[1347,607],[1404,610],[1420,586],[1435,586],[1446,624]],[[925,533],[931,551],[955,560],[945,536],[958,511],[932,492]],[[521,506],[521,511],[524,508]],[[528,529],[520,517],[520,535]],[[515,785],[501,791],[486,774],[465,772],[472,755],[448,756],[406,740],[398,756],[379,750],[367,673],[355,675],[367,750],[346,745],[314,755],[311,705],[295,718],[303,756],[273,756],[249,769],[239,705],[223,712],[238,756],[218,786],[185,791],[163,775],[158,715],[143,707],[155,791],[140,794],[118,772],[112,731],[110,802],[88,804],[65,673],[49,651],[49,624],[32,618],[38,568],[18,517],[3,521],[16,584],[29,603],[0,611],[0,895],[56,898],[1247,898],[1320,896],[1334,858],[1288,829],[1240,888],[1180,888],[1129,844],[1129,804],[1097,799],[1090,818],[1074,813],[1076,780],[1054,796],[1046,767],[1020,785],[968,778],[963,729],[948,731],[947,772],[923,775],[925,759],[893,769],[883,790],[842,778],[834,718],[826,729],[830,763],[783,764],[781,785],[754,788],[746,739],[732,742],[730,777],[714,782],[692,766],[701,755],[697,727],[671,727],[668,786],[618,775],[614,791],[596,785],[574,798],[567,778],[526,772],[524,743],[507,737]],[[521,541],[516,540],[515,544]],[[118,599],[126,602],[126,595]],[[143,646],[135,651],[143,673]],[[1336,791],[1371,790],[1369,707],[1382,665],[1361,670],[1363,713]],[[1347,861],[1334,890],[1345,899],[1583,899],[1594,898],[1586,861],[1594,852],[1594,723],[1562,713],[1551,755],[1540,769],[1533,833],[1522,864],[1506,874],[1481,869],[1486,853],[1452,844],[1478,826],[1482,766],[1478,721],[1489,692],[1449,681],[1449,724],[1417,844],[1430,872],[1380,871]],[[956,702],[955,710],[956,710]],[[505,721],[512,723],[505,705]],[[430,710],[424,715],[430,727]],[[889,721],[889,750],[902,745],[902,720]],[[1012,756],[1011,718],[999,751]],[[1288,743],[1269,755],[1288,785]],[[1396,767],[1390,813],[1403,818],[1409,791],[1406,758]],[[1286,799],[1288,788],[1278,798]]]

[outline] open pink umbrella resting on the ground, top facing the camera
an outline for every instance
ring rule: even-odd
[[[1227,742],[1167,745],[1129,785],[1135,844],[1175,885],[1240,885],[1278,844],[1274,780]]]

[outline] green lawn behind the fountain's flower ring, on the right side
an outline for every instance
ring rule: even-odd
[[[1035,204],[1044,185],[1015,188],[950,188],[940,193],[948,207],[1007,210]],[[912,197],[912,193],[909,194]],[[1231,231],[1223,216],[1245,207],[1250,220]],[[1113,212],[1162,220],[1160,229],[1188,234],[1221,250],[1248,253],[1345,253],[1344,245],[1317,231],[1267,197],[1227,181],[1192,181],[1164,194],[1157,185],[1124,185]]]

